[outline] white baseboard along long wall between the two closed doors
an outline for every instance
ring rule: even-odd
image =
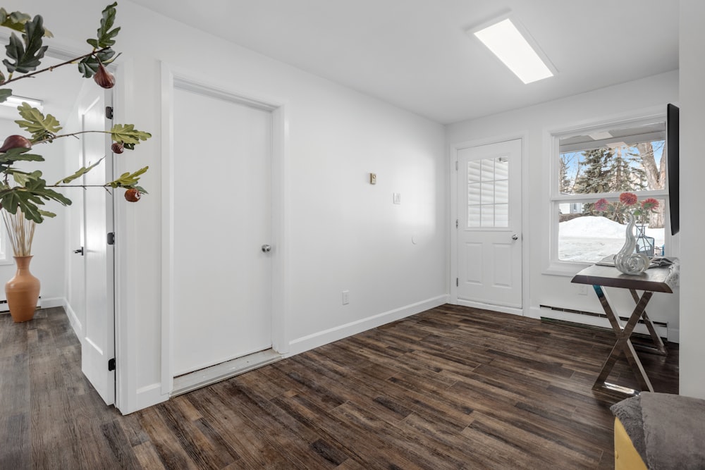
[[[346,323],[345,325],[336,326],[329,330],[319,331],[312,335],[304,336],[303,338],[297,338],[289,343],[289,352],[286,354],[286,357],[312,350],[314,347],[327,345],[333,341],[348,338],[348,336],[357,335],[357,333],[362,333],[363,331],[403,319],[407,316],[419,314],[422,311],[433,309],[434,307],[439,307],[446,303],[448,303],[448,295],[439,295],[439,297],[410,304],[405,307],[400,307],[399,309],[385,311],[381,314],[369,316],[366,319]]]

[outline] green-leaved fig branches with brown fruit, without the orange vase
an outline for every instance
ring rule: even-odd
[[[40,15],[32,18],[27,13],[7,13],[0,8],[0,25],[9,27],[15,32],[20,32],[19,37],[14,32],[11,34],[5,47],[6,59],[2,61],[6,67],[6,75],[0,71],[0,102],[11,96],[12,90],[5,85],[20,80],[20,78],[35,78],[40,73],[49,72],[61,66],[75,63],[83,78],[93,78],[102,88],[109,89],[115,85],[115,77],[106,70],[106,65],[113,62],[119,54],[112,49],[115,38],[120,31],[115,26],[117,2],[106,6],[102,11],[102,18],[94,38],[87,39],[92,50],[69,61],[64,61],[56,66],[39,69],[47,46],[42,44],[44,37],[51,37],[51,33],[44,27],[44,19]],[[38,70],[39,69],[39,70]],[[125,199],[137,202],[142,193],[147,193],[139,186],[140,177],[149,167],[145,166],[133,173],[123,173],[118,178],[104,185],[80,184],[79,178],[98,166],[103,159],[89,166],[79,168],[73,175],[47,185],[42,176],[42,171],[25,170],[16,167],[16,163],[37,163],[44,161],[44,157],[32,153],[36,144],[51,143],[61,137],[78,137],[89,132],[109,134],[113,143],[111,151],[122,154],[125,149],[133,150],[142,141],[148,140],[152,135],[135,129],[132,124],[116,124],[110,130],[81,130],[60,134],[59,120],[47,114],[44,116],[39,109],[32,108],[27,103],[18,106],[21,119],[15,122],[20,128],[26,130],[28,137],[23,135],[10,135],[0,146],[0,210],[4,209],[11,214],[21,211],[28,220],[42,223],[45,217],[54,217],[56,214],[40,209],[45,202],[58,202],[63,206],[71,204],[71,199],[56,191],[59,187],[103,187],[104,190],[122,188],[125,190]],[[105,157],[103,157],[105,158]],[[20,169],[21,168],[21,169]],[[78,181],[77,181],[78,180]]]

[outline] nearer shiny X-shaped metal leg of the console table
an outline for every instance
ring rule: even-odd
[[[622,328],[618,317],[615,315],[612,307],[607,301],[607,297],[605,292],[602,290],[602,286],[593,285],[592,287],[594,288],[597,297],[600,299],[602,308],[604,309],[605,314],[607,314],[607,319],[610,321],[612,329],[615,332],[615,336],[617,337],[617,342],[615,342],[610,355],[603,364],[600,374],[597,376],[597,380],[592,388],[595,390],[602,389],[611,392],[620,392],[627,395],[636,395],[639,392],[639,390],[606,382],[607,377],[610,375],[617,359],[620,357],[620,354],[624,354],[627,358],[627,362],[629,362],[629,365],[632,368],[632,372],[634,372],[634,375],[637,378],[637,382],[639,382],[639,387],[641,387],[641,390],[653,392],[654,388],[651,386],[651,382],[646,376],[646,371],[644,371],[644,366],[642,366],[642,361],[639,361],[639,357],[637,357],[637,353],[634,350],[634,345],[632,345],[632,341],[629,338],[632,335],[632,331],[637,325],[637,322],[640,318],[642,318],[644,310],[646,310],[646,304],[649,303],[651,295],[654,295],[654,293],[644,291],[644,294],[642,294],[642,297],[639,298],[639,302],[637,302],[634,311],[632,311],[632,315],[629,317],[627,324],[624,328]],[[636,295],[636,292],[634,292],[633,295]]]

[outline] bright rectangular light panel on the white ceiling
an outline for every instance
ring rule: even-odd
[[[517,25],[518,22],[504,16],[491,25],[482,25],[469,32],[482,41],[522,82],[531,83],[553,77],[556,70],[551,70],[548,58],[541,53],[525,28],[522,27],[522,34]]]

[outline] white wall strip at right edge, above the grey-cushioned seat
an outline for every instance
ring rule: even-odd
[[[705,398],[705,309],[702,271],[705,254],[702,235],[701,194],[705,175],[702,135],[705,129],[705,63],[702,47],[705,4],[701,0],[680,1],[680,393]]]

